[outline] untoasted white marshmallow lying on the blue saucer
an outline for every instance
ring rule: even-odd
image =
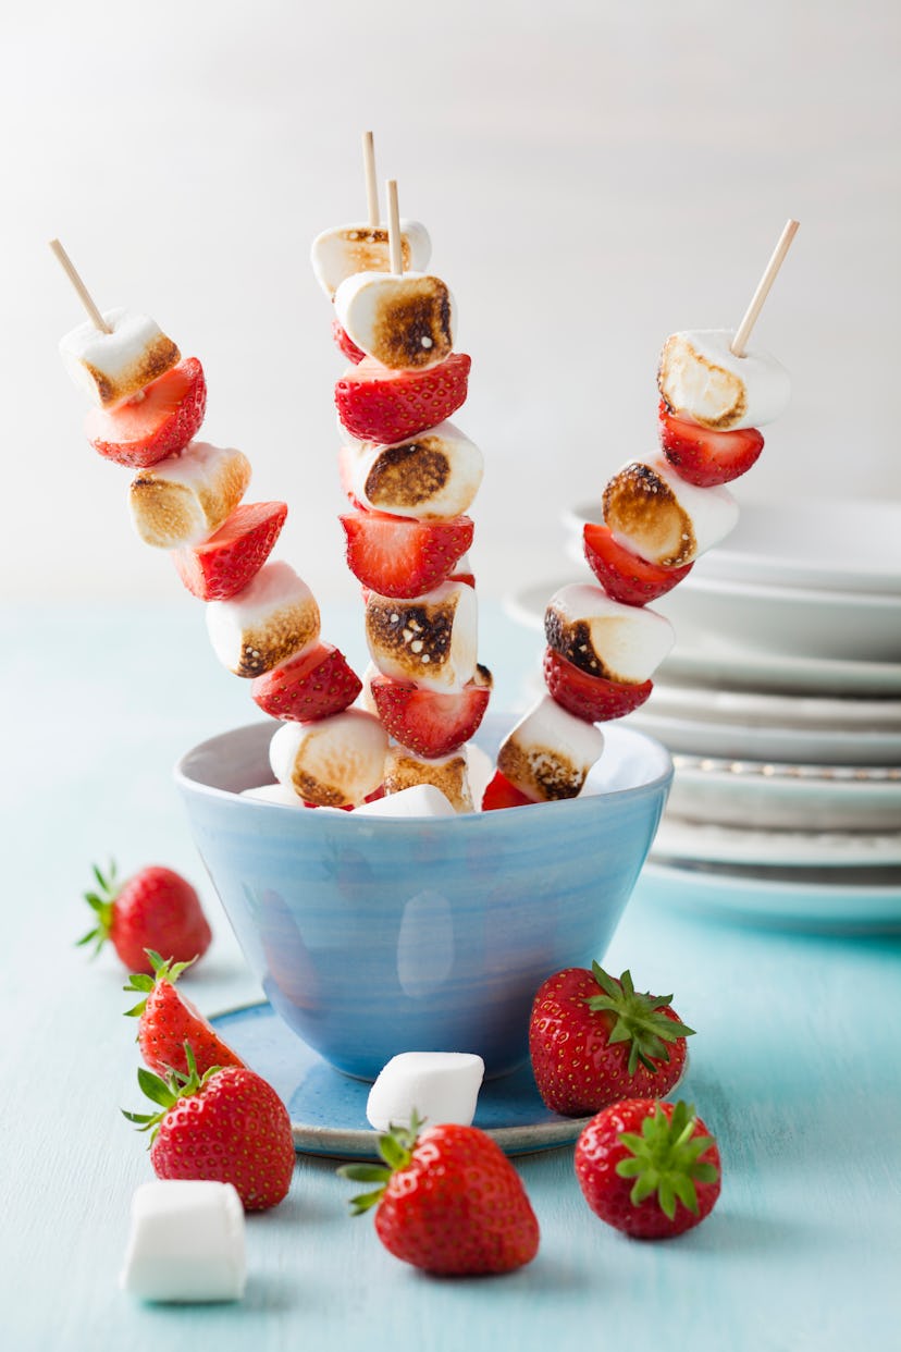
[[[378,1072],[366,1118],[377,1132],[407,1125],[413,1111],[430,1126],[470,1126],[484,1078],[474,1052],[401,1052]]]

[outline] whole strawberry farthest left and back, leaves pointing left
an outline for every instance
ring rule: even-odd
[[[107,940],[130,972],[153,975],[147,949],[165,953],[173,963],[203,957],[212,941],[200,898],[170,868],[151,865],[119,884],[116,865],[108,877],[93,868],[97,891],[85,892],[85,900],[97,917],[95,929],[78,944],[95,942],[99,953]]]

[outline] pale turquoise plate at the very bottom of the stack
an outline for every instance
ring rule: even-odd
[[[746,923],[781,925],[802,930],[901,929],[901,876],[894,882],[862,882],[832,873],[832,882],[806,880],[797,871],[785,877],[752,873],[723,875],[678,864],[648,863],[635,888],[632,906],[652,904]]]

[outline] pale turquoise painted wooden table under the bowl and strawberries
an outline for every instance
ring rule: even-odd
[[[484,610],[501,707],[538,658],[535,637]],[[119,1113],[138,1098],[124,973],[73,948],[80,892],[109,853],[124,871],[181,869],[215,929],[189,994],[205,1013],[259,998],[172,784],[188,746],[255,710],[186,596],[131,615],[7,607],[3,623],[5,1348],[901,1347],[901,940],[715,923],[640,884],[608,959],[644,988],[674,988],[698,1029],[685,1094],[724,1168],[702,1226],[625,1240],[589,1213],[559,1148],[517,1161],[538,1259],[507,1278],[436,1280],[392,1259],[371,1218],[349,1217],[353,1186],[332,1163],[300,1156],[288,1199],[249,1218],[240,1305],[122,1294],[131,1194],[151,1171]],[[326,608],[324,637],[357,661],[358,627]]]

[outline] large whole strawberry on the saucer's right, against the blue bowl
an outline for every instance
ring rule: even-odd
[[[640,994],[598,963],[567,967],[539,987],[528,1051],[542,1099],[563,1117],[586,1117],[621,1098],[662,1098],[685,1065],[694,1029],[670,1009],[671,995]]]

